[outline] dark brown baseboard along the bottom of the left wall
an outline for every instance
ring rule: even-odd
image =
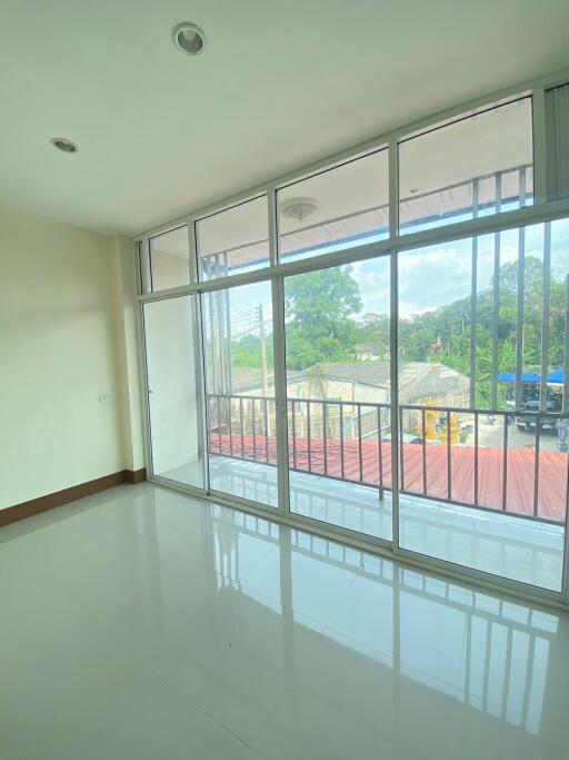
[[[56,493],[50,493],[46,496],[31,499],[29,502],[7,506],[6,510],[0,510],[0,527],[16,523],[19,520],[32,517],[33,515],[41,514],[48,510],[53,510],[56,506],[69,504],[69,502],[74,502],[78,499],[91,496],[93,493],[112,488],[121,483],[141,483],[142,481],[146,481],[146,478],[147,471],[143,467],[142,470],[121,470],[118,473],[104,475],[94,481],[79,483],[79,485],[72,485],[70,488],[63,488],[62,491],[56,491]]]

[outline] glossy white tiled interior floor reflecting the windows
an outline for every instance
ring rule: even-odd
[[[0,531],[2,760],[558,760],[569,619],[153,486]]]

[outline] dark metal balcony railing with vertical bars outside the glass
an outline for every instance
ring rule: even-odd
[[[208,394],[207,402],[210,454],[277,465],[273,398]],[[288,398],[290,470],[390,491],[390,414],[387,403]],[[515,447],[509,411],[400,405],[400,493],[563,524],[568,456],[541,446],[543,423],[560,415],[527,416],[535,433]]]

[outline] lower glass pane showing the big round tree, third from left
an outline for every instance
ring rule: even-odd
[[[391,540],[389,258],[284,280],[290,509]]]

